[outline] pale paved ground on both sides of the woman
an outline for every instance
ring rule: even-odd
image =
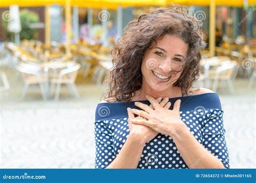
[[[93,121],[102,87],[78,83],[81,98],[42,101],[38,87],[20,100],[22,82],[10,75],[11,88],[1,93],[2,168],[93,168]],[[220,89],[231,168],[255,168],[255,85],[235,81],[236,94]]]

